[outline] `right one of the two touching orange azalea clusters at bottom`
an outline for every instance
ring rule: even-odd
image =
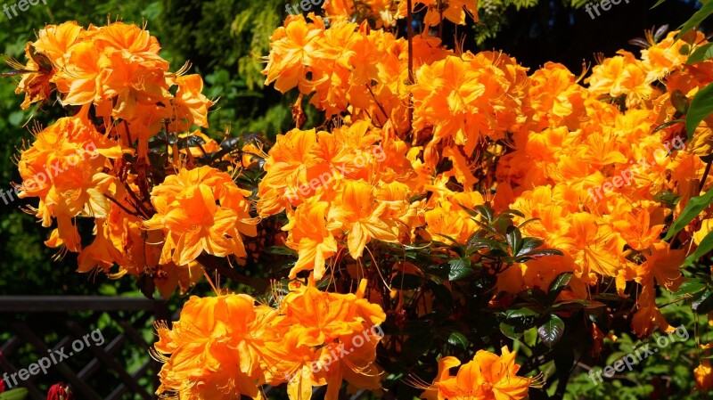
[[[293,285],[280,306],[289,330],[283,338],[275,380],[289,378],[292,400],[309,400],[313,386],[327,385],[326,400],[339,398],[342,380],[356,388],[380,388],[373,363],[381,336],[373,327],[386,319],[381,306],[364,298],[366,281],[356,294],[342,295]],[[358,337],[360,340],[356,340]],[[361,345],[359,345],[361,344]]]

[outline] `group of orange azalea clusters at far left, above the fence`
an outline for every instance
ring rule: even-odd
[[[56,221],[47,246],[78,252],[79,272],[147,274],[168,297],[201,278],[196,259],[204,250],[244,257],[242,235],[256,228],[250,193],[227,173],[196,166],[201,151],[219,148],[188,132],[208,127],[213,102],[201,94],[201,77],[169,72],[159,51],[156,37],[135,25],[66,22],[40,30],[26,47],[27,64],[11,65],[23,75],[23,109],[56,96],[71,115],[36,126],[18,160],[20,197],[39,199],[29,212],[45,227]],[[160,131],[203,145],[178,149],[167,138],[169,159],[152,164],[149,141]],[[48,182],[33,183],[40,175]],[[79,217],[94,218],[86,247]]]

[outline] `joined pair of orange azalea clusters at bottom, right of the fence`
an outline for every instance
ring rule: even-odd
[[[257,399],[266,383],[287,382],[291,399],[308,400],[326,385],[325,398],[335,400],[342,380],[381,388],[374,363],[381,336],[373,328],[386,314],[364,298],[365,288],[364,281],[356,293],[339,294],[316,289],[314,280],[292,282],[275,307],[243,294],[192,297],[172,328],[157,324],[153,354],[165,363],[157,394]],[[352,344],[361,346],[343,349]]]

